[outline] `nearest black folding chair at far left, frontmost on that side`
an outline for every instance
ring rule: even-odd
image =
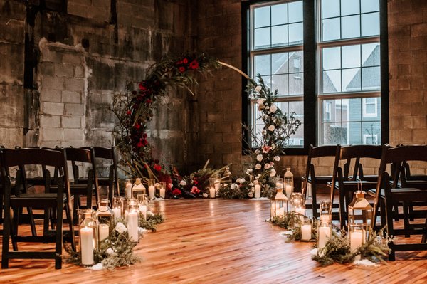
[[[26,175],[23,174],[25,166],[37,166],[41,169],[44,179],[43,193],[21,193],[21,184],[25,182]],[[45,167],[55,167],[58,169],[57,192],[51,193],[51,174]],[[11,167],[19,167],[16,172],[16,184],[14,191],[11,186]],[[52,258],[55,260],[55,268],[62,266],[63,249],[63,210],[70,224],[70,242],[75,250],[75,238],[73,231],[73,206],[71,205],[70,187],[68,182],[67,162],[64,151],[50,149],[1,149],[1,174],[4,186],[4,230],[3,246],[1,253],[1,268],[9,267],[9,259],[14,258]],[[56,230],[53,234],[43,236],[19,235],[18,216],[22,207],[39,208],[44,210],[52,209],[56,211]],[[11,215],[13,211],[13,216]],[[12,241],[14,250],[9,249],[9,239]],[[40,242],[55,243],[55,251],[18,251],[19,242]]]

